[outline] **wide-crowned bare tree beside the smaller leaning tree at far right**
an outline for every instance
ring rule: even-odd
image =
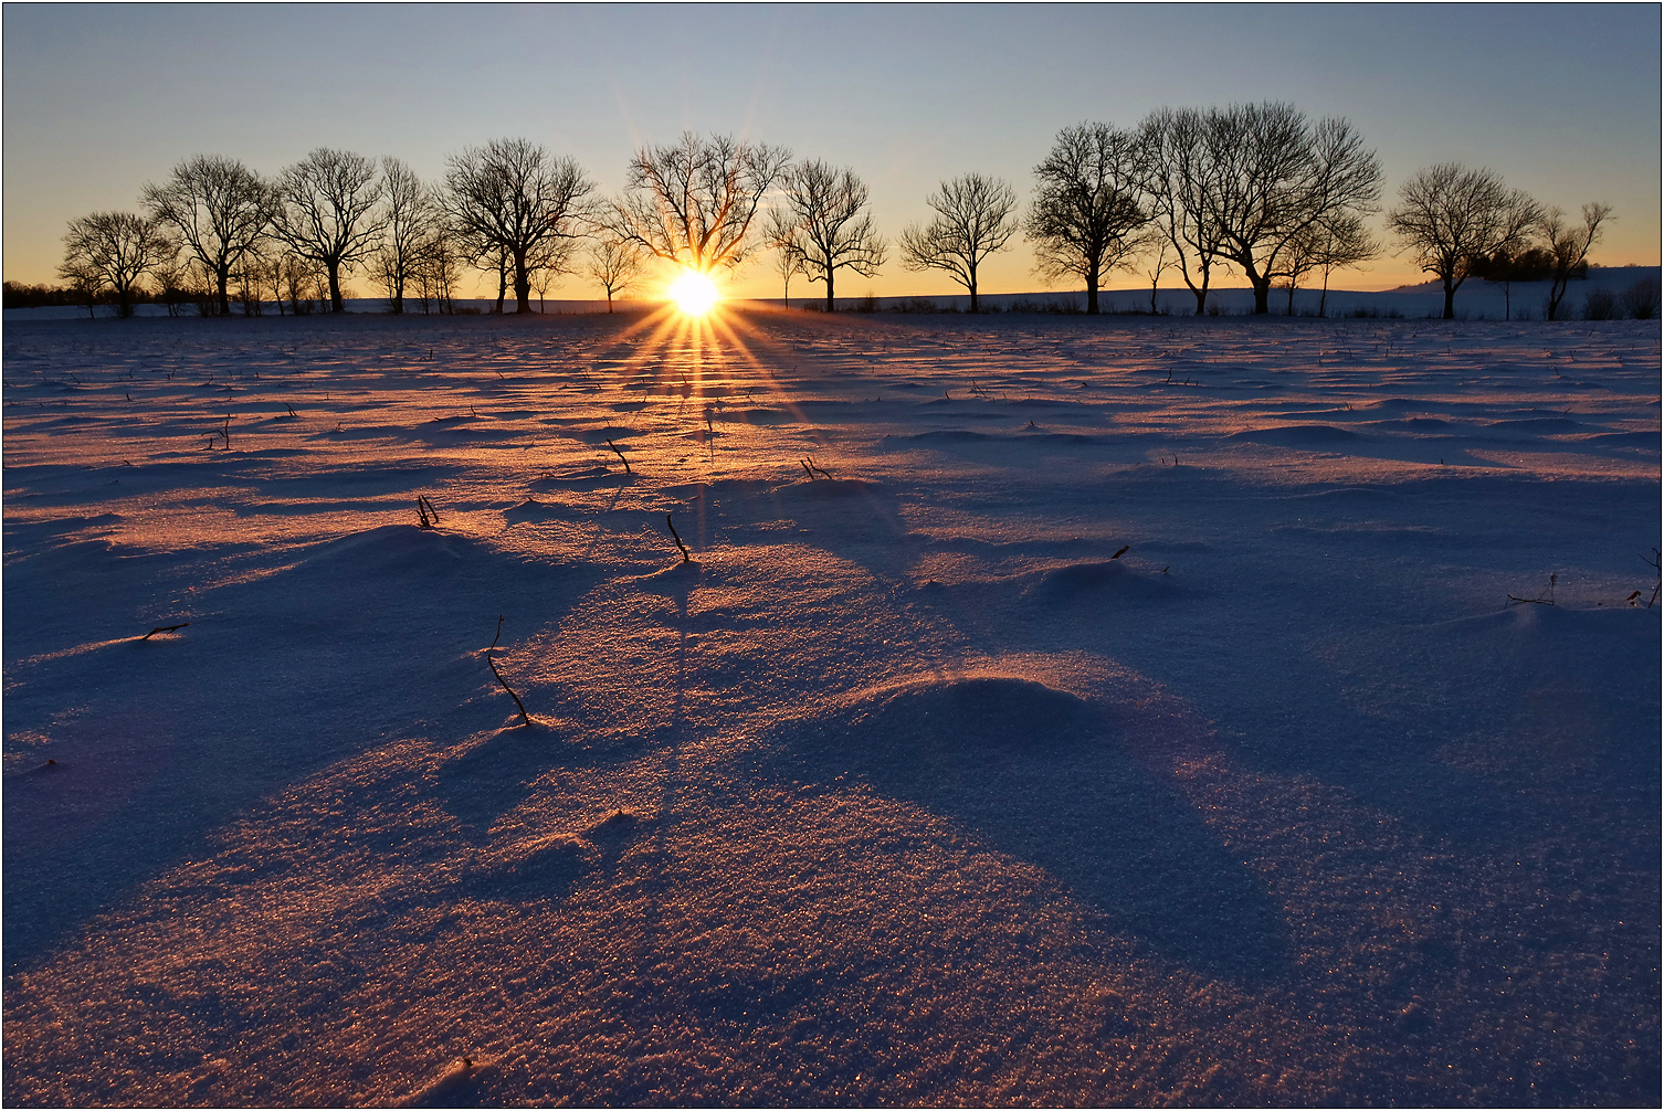
[[[1456,291],[1474,261],[1518,248],[1541,218],[1538,203],[1503,185],[1496,171],[1453,161],[1418,170],[1398,196],[1386,226],[1423,271],[1444,283],[1444,319],[1456,319]]]

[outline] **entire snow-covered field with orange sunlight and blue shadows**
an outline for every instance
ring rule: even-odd
[[[1656,323],[3,378],[10,1106],[1659,1101]]]

